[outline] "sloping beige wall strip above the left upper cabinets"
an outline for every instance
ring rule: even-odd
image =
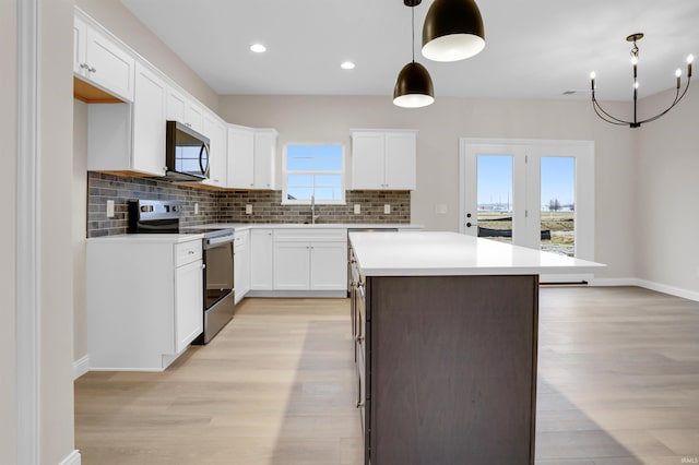
[[[119,0],[76,0],[75,4],[212,111],[217,111],[218,96],[211,87]]]

